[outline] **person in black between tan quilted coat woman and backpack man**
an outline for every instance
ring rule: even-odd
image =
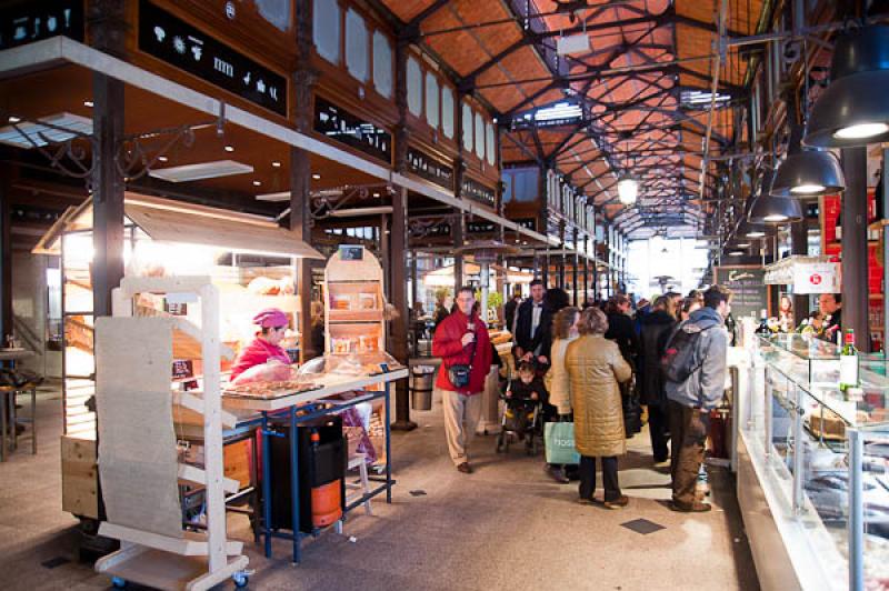
[[[648,430],[651,433],[651,451],[655,463],[667,461],[667,394],[663,391],[663,374],[660,358],[676,325],[672,300],[660,296],[651,311],[642,319],[641,347],[639,351],[639,380],[642,404],[648,405]]]

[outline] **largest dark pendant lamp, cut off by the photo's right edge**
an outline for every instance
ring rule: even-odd
[[[839,37],[830,80],[812,108],[802,143],[852,148],[889,140],[889,27],[873,24]]]

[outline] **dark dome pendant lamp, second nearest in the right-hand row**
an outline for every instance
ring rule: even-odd
[[[830,152],[803,150],[778,166],[769,191],[777,197],[818,197],[846,189],[839,161]]]

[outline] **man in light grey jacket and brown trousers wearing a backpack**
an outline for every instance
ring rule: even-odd
[[[707,432],[710,429],[710,411],[717,408],[726,391],[729,335],[725,321],[731,311],[731,291],[712,286],[703,293],[703,308],[691,312],[679,325],[667,348],[678,342],[676,334],[686,331],[697,333],[693,344],[693,369],[681,382],[665,380],[669,400],[670,438],[672,458],[673,502],[671,509],[682,512],[709,511],[710,505],[695,499],[695,484],[703,462]],[[689,349],[691,351],[691,349]],[[676,355],[679,359],[680,355]]]

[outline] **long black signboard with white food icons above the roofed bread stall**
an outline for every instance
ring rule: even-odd
[[[148,0],[139,3],[139,49],[287,117],[287,79]]]

